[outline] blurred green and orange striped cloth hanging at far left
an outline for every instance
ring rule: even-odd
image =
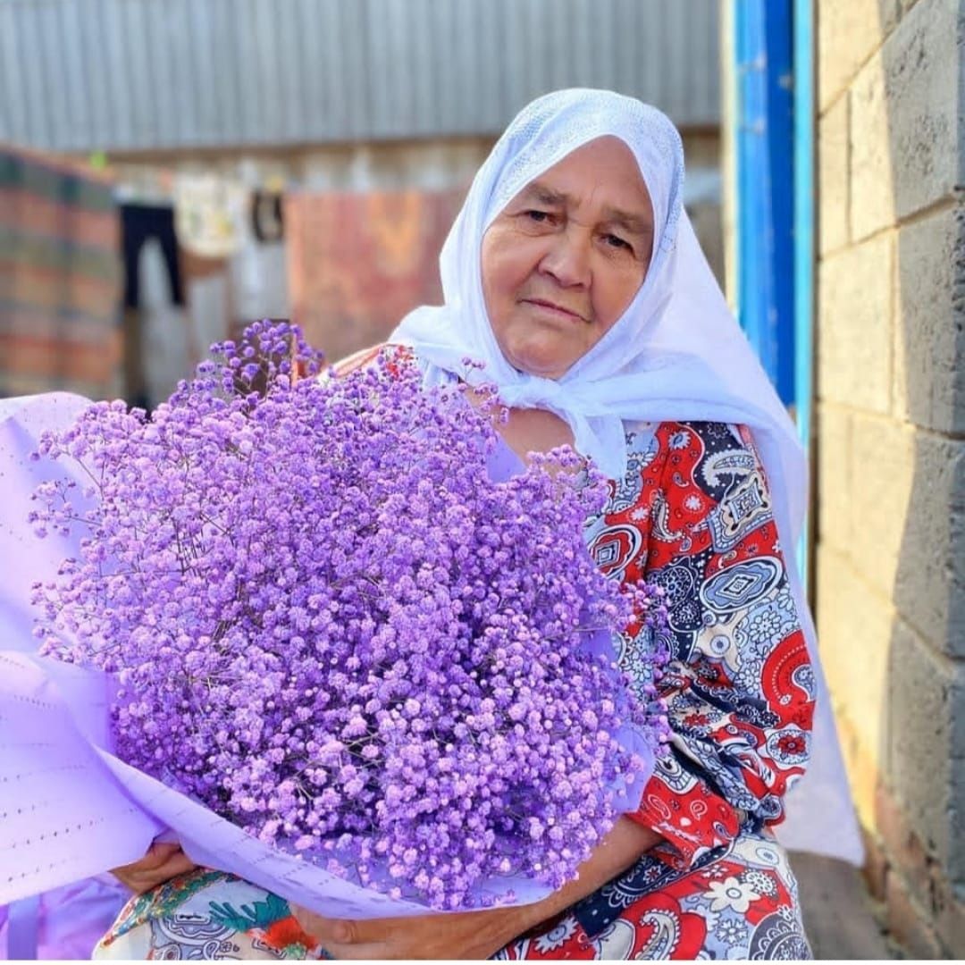
[[[119,394],[122,283],[111,180],[0,145],[0,397]]]

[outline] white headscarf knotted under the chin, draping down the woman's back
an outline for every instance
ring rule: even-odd
[[[530,181],[598,137],[633,152],[654,215],[653,257],[629,307],[559,379],[514,369],[486,316],[481,277],[485,230]],[[610,91],[539,97],[512,121],[480,168],[440,257],[445,303],[406,316],[390,341],[411,345],[427,385],[495,383],[519,408],[545,408],[573,430],[575,446],[610,478],[626,466],[624,422],[701,420],[751,428],[772,491],[791,588],[817,677],[813,755],[787,800],[778,834],[788,846],[855,863],[862,845],[820,671],[813,623],[794,549],[808,502],[807,459],[794,425],[737,325],[683,209],[683,149],[660,111]],[[465,370],[466,358],[484,363]]]

